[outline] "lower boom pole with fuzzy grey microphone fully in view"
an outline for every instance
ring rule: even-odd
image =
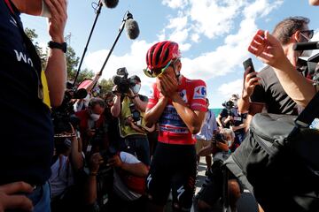
[[[129,11],[125,12],[124,18],[122,19],[121,27],[119,28],[119,34],[116,36],[115,41],[113,42],[113,46],[108,52],[107,57],[105,58],[105,63],[102,65],[101,70],[99,72],[100,76],[102,75],[102,72],[105,68],[105,64],[110,58],[116,43],[119,41],[119,38],[121,36],[121,33],[123,32],[124,27],[126,28],[129,39],[135,40],[139,35],[139,32],[140,32],[139,27],[137,25],[136,20],[133,19],[132,13],[130,13]]]

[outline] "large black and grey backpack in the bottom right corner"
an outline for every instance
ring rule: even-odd
[[[318,94],[299,117],[256,114],[232,155],[265,211],[319,211]]]

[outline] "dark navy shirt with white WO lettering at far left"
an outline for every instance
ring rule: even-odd
[[[37,98],[33,61],[4,0],[0,19],[0,185],[18,180],[40,185],[51,176],[50,110]]]

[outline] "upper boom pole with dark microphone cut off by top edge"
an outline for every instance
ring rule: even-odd
[[[117,6],[117,4],[119,4],[119,0],[99,0],[99,1],[98,1],[98,4],[97,4],[97,3],[92,3],[92,7],[93,7],[93,9],[95,10],[95,12],[96,12],[97,15],[96,15],[96,18],[94,19],[93,26],[92,26],[91,31],[90,31],[90,33],[89,33],[88,42],[86,43],[85,48],[84,48],[84,50],[83,50],[82,57],[81,57],[81,61],[80,61],[78,70],[77,70],[77,72],[76,72],[76,74],[75,74],[74,84],[73,84],[73,85],[75,85],[76,79],[78,78],[79,73],[80,73],[80,71],[81,71],[81,66],[82,66],[82,63],[83,63],[83,59],[84,59],[84,56],[85,56],[85,54],[86,54],[86,52],[87,52],[87,50],[88,50],[89,41],[90,41],[91,36],[92,36],[92,34],[93,34],[94,28],[95,28],[95,26],[96,26],[96,24],[97,24],[97,19],[98,19],[98,17],[99,17],[99,14],[101,13],[102,6],[105,6],[105,7],[107,7],[107,8],[113,9],[113,8],[115,8],[115,7]]]

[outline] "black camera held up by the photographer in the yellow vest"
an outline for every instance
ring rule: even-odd
[[[128,94],[129,87],[134,87],[136,81],[128,78],[128,71],[126,67],[119,68],[116,75],[112,78],[113,84],[117,86],[116,92],[121,94]]]

